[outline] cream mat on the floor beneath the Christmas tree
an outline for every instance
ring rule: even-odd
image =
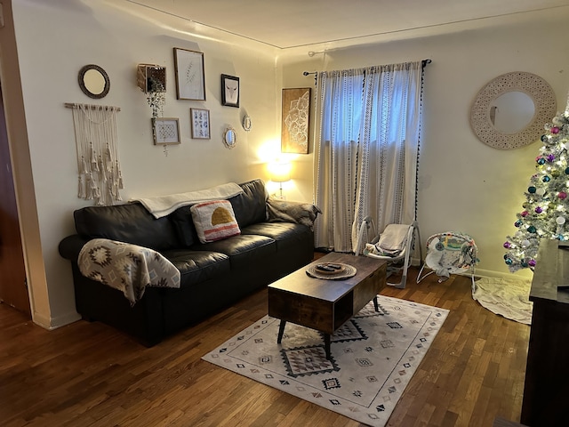
[[[531,278],[479,278],[472,298],[486,309],[525,325],[532,324]]]

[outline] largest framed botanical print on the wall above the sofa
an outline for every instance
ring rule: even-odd
[[[174,47],[176,97],[205,101],[204,53]]]

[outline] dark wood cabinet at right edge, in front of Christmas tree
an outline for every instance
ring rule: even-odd
[[[521,423],[568,425],[569,246],[541,240],[530,301],[532,328],[525,368]]]

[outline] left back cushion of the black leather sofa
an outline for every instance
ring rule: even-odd
[[[168,217],[156,219],[140,203],[88,206],[74,212],[77,233],[84,238],[109,238],[156,251],[179,247]]]

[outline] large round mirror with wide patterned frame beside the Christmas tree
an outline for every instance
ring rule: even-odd
[[[494,149],[518,149],[538,141],[556,114],[551,86],[532,73],[502,74],[485,85],[470,109],[470,125]]]

